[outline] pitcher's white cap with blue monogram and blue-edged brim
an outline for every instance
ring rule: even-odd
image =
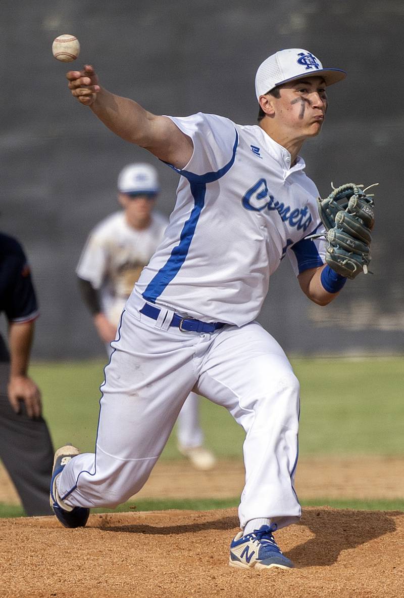
[[[326,85],[332,85],[347,76],[342,69],[325,69],[314,54],[302,48],[279,50],[269,56],[255,75],[257,100],[277,85],[302,77],[323,77]]]

